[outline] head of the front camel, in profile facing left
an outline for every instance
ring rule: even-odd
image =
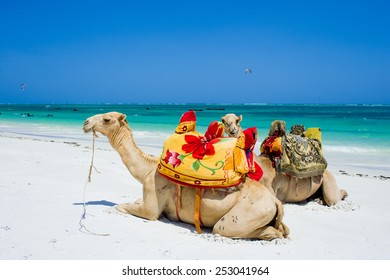
[[[109,112],[89,117],[84,123],[83,130],[85,133],[93,131],[94,133],[100,132],[104,136],[109,136],[124,125],[127,126],[126,115],[118,112]]]

